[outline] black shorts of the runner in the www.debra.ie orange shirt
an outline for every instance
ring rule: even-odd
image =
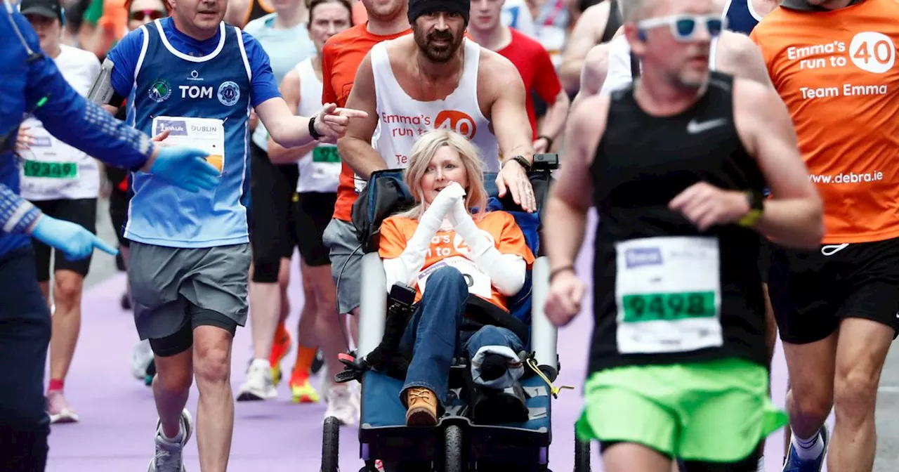
[[[816,251],[772,244],[770,256],[769,293],[783,341],[820,341],[849,317],[899,330],[899,238]]]

